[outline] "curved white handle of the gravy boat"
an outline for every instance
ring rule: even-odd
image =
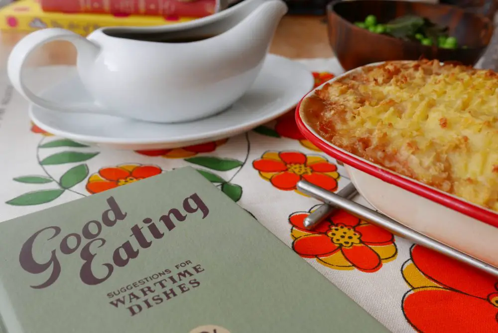
[[[34,94],[25,85],[23,70],[25,68],[26,60],[35,49],[54,40],[71,42],[76,47],[78,53],[78,65],[81,63],[81,65],[83,65],[82,67],[86,67],[87,70],[91,69],[91,63],[93,63],[100,51],[100,47],[97,44],[72,31],[61,28],[37,30],[22,38],[14,46],[9,55],[7,74],[12,86],[26,99],[45,109],[62,112],[105,113],[103,108],[100,108],[94,103],[70,104],[48,101]]]

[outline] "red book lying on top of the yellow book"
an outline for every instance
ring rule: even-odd
[[[220,10],[219,0],[39,0],[44,11],[114,15],[204,17]]]

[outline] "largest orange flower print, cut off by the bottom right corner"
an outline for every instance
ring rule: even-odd
[[[498,332],[498,279],[414,245],[402,268],[403,313],[418,332]]]

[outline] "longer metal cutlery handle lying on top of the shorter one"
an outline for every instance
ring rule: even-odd
[[[408,228],[407,226],[383,215],[370,208],[367,208],[359,203],[343,198],[336,193],[329,192],[321,187],[318,187],[306,180],[300,180],[297,183],[297,189],[301,192],[308,194],[318,200],[327,204],[341,207],[352,215],[366,219],[367,221],[375,224],[381,228],[389,230],[393,234],[400,235],[410,241],[452,257],[456,260],[464,262],[470,266],[487,272],[493,276],[498,277],[498,268],[492,266],[484,261],[471,257],[463,252],[458,251],[446,244],[438,242],[418,231]]]

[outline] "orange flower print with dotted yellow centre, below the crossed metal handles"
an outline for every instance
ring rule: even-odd
[[[320,264],[339,270],[357,269],[372,273],[397,255],[394,236],[387,230],[369,224],[340,210],[312,231],[303,226],[309,212],[289,216],[292,224],[292,248],[303,258],[315,258]]]

